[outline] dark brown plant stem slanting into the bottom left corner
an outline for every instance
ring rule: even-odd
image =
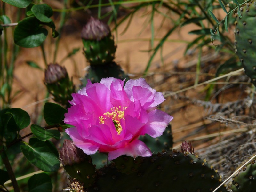
[[[10,161],[9,161],[8,157],[7,157],[5,149],[1,150],[0,155],[1,155],[2,160],[4,162],[5,168],[6,168],[7,172],[8,172],[10,180],[12,181],[12,187],[14,189],[14,192],[20,192],[17,180],[15,178],[14,172],[12,170],[12,166],[10,164]]]

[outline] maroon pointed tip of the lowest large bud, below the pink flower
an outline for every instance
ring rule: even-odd
[[[76,147],[70,140],[65,139],[63,147],[60,149],[60,160],[63,165],[73,165],[83,162],[86,155],[82,149]]]

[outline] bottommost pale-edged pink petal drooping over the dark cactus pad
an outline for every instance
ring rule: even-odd
[[[134,157],[137,156],[149,157],[152,155],[150,149],[140,140],[134,140],[131,143],[128,143],[124,148],[119,148],[108,153],[108,160],[116,159],[121,155],[127,155]]]

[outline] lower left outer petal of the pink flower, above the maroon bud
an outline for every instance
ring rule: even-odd
[[[65,130],[65,132],[70,136],[70,138],[73,140],[76,147],[82,149],[84,153],[91,155],[98,151],[99,146],[93,145],[90,142],[87,142],[84,140],[76,131],[75,127],[71,127]]]

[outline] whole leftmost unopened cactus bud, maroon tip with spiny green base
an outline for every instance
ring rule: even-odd
[[[72,80],[69,80],[65,67],[58,64],[49,64],[44,72],[44,84],[53,100],[68,106],[68,100],[72,100],[71,94],[75,92],[75,86]]]

